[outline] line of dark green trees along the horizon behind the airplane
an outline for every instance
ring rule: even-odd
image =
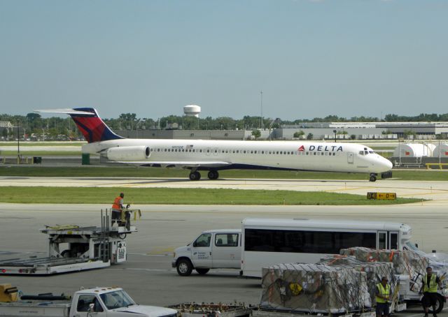
[[[8,138],[16,135],[19,126],[19,135],[47,135],[48,138],[59,138],[60,140],[81,138],[76,125],[70,117],[50,117],[42,118],[38,113],[28,113],[22,115],[0,115],[0,121],[9,121],[15,128],[3,128],[1,136]],[[159,119],[139,118],[135,113],[122,113],[118,118],[103,119],[103,121],[113,130],[153,130],[167,128],[182,128],[184,130],[260,130],[261,128],[278,128],[281,125],[303,126],[307,122],[398,122],[398,121],[448,121],[448,113],[426,114],[421,113],[416,116],[386,115],[384,119],[377,117],[338,117],[328,115],[313,119],[272,119],[260,118],[259,116],[244,116],[241,119],[231,117],[185,117],[169,115]]]

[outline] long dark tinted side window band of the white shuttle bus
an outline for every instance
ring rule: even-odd
[[[377,248],[377,233],[246,229],[245,251],[339,253],[353,246]]]

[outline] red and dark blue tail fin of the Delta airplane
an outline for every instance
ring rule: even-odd
[[[76,108],[73,110],[92,113],[92,115],[69,114],[87,142],[123,139],[120,135],[113,133],[109,126],[106,126],[104,121],[98,116],[97,110],[93,108]]]

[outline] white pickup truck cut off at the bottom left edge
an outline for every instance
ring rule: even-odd
[[[54,297],[55,300],[52,300],[52,297]],[[22,296],[22,299],[17,301],[0,302],[0,316],[178,316],[178,312],[175,309],[136,304],[123,288],[98,287],[78,290],[73,295],[73,300],[71,300],[71,302],[59,297],[60,296],[52,295],[24,295]]]

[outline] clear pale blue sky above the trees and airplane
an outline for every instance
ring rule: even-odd
[[[0,113],[448,112],[448,1],[0,0]]]

